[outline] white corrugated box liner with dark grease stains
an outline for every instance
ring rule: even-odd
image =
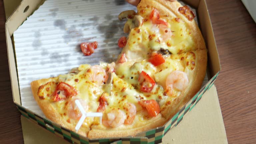
[[[118,15],[136,7],[124,0],[46,0],[14,32],[14,45],[22,106],[44,116],[33,98],[30,83],[67,73],[80,64],[115,61],[125,21]],[[194,10],[195,11],[195,10]],[[82,42],[98,42],[91,56]],[[203,83],[208,81],[207,76]]]

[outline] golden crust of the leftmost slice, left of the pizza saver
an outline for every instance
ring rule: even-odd
[[[72,130],[72,131],[75,131],[75,125],[76,124],[73,125],[71,123],[68,123],[56,111],[56,109],[54,108],[54,106],[51,104],[50,101],[39,99],[39,96],[37,95],[38,88],[41,85],[44,85],[47,82],[51,82],[51,81],[56,81],[56,78],[40,79],[40,80],[36,80],[36,81],[32,81],[31,82],[31,90],[32,90],[34,99],[36,100],[37,104],[39,105],[39,107],[43,111],[44,115],[48,119],[50,119],[51,121],[61,125],[62,127],[65,127],[65,128],[67,128],[69,130]],[[83,136],[87,136],[87,133],[89,132],[89,130],[90,129],[88,129],[88,128],[81,127],[77,133],[79,133],[79,134],[81,134]]]

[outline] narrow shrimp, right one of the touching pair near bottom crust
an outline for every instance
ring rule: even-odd
[[[125,105],[126,111],[127,111],[127,118],[124,121],[124,124],[132,124],[134,121],[134,118],[136,116],[136,106],[132,103],[126,103]]]

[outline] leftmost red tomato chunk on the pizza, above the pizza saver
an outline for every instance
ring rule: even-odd
[[[78,94],[78,91],[65,82],[60,82],[52,93],[53,101],[60,101]]]

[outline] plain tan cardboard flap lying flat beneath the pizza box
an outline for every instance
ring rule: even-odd
[[[228,143],[215,85],[206,92],[201,101],[186,119],[163,137],[162,144]],[[25,144],[69,144],[24,116],[21,116],[21,125]]]

